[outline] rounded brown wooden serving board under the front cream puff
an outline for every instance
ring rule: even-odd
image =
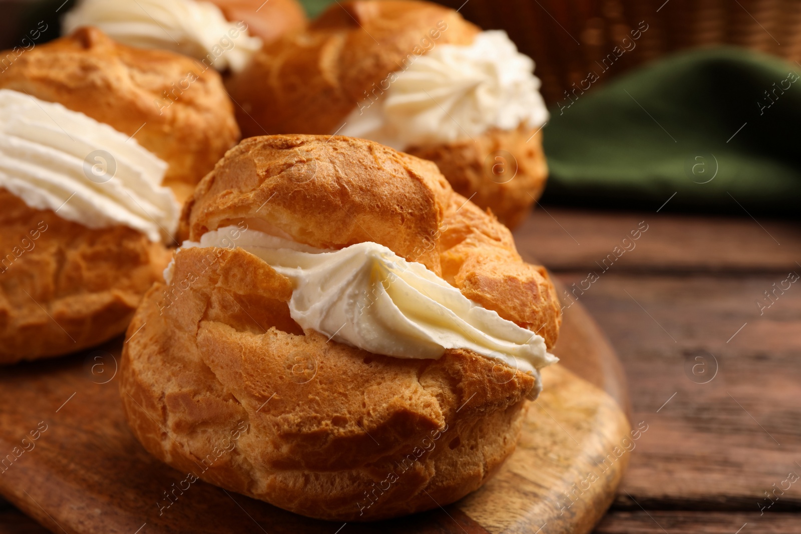
[[[543,372],[545,390],[517,450],[457,503],[341,524],[196,482],[159,516],[163,492],[186,475],[149,456],[127,427],[115,377],[122,345],[117,339],[79,355],[0,367],[0,494],[51,532],[581,534],[610,505],[628,462],[628,454],[614,454],[630,437],[622,372],[577,303],[566,310],[555,351],[562,363]]]

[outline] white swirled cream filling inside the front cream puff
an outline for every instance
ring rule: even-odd
[[[232,240],[231,235],[237,235]],[[467,299],[421,263],[365,242],[322,250],[264,232],[223,227],[191,247],[239,247],[292,280],[292,319],[339,343],[397,358],[438,359],[466,348],[537,375],[557,358],[545,339]],[[164,271],[171,283],[174,263]]]

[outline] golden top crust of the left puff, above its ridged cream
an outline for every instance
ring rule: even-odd
[[[214,69],[173,52],[121,45],[94,27],[28,50],[0,73],[0,88],[61,103],[135,136],[167,162],[163,184],[181,202],[239,139]]]

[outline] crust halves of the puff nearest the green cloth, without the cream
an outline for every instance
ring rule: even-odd
[[[352,0],[331,6],[308,30],[264,46],[250,65],[227,80],[239,102],[236,118],[252,135],[329,134],[358,102],[380,98],[390,73],[421,49],[421,38],[440,22],[436,45],[469,45],[480,31],[457,11],[429,2]],[[421,52],[422,53],[422,52]],[[489,207],[501,223],[516,227],[541,195],[548,169],[537,130],[488,130],[467,141],[408,147],[430,159],[453,188]],[[527,142],[528,141],[528,142]],[[513,156],[509,159],[508,155]],[[509,182],[493,173],[495,156],[517,175]]]

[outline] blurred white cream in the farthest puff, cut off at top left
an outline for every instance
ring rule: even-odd
[[[97,26],[129,46],[173,50],[217,70],[242,70],[261,48],[244,22],[228,22],[219,7],[201,0],[82,0],[64,17],[64,33],[81,26]]]

